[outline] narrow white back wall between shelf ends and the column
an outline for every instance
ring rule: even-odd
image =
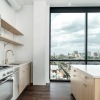
[[[19,36],[24,46],[16,47],[16,61],[33,62],[33,6],[24,5],[16,13],[16,27],[24,34]]]

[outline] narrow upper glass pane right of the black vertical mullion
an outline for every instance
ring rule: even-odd
[[[88,13],[88,60],[100,60],[100,13]]]

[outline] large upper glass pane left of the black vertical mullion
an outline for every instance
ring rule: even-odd
[[[85,13],[51,13],[51,59],[85,59]]]

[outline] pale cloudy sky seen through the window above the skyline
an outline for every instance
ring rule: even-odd
[[[88,52],[100,51],[100,13],[88,13]],[[51,55],[85,52],[85,13],[51,13]]]

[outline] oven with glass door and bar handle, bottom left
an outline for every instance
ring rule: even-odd
[[[0,80],[0,100],[12,100],[13,97],[13,75]]]

